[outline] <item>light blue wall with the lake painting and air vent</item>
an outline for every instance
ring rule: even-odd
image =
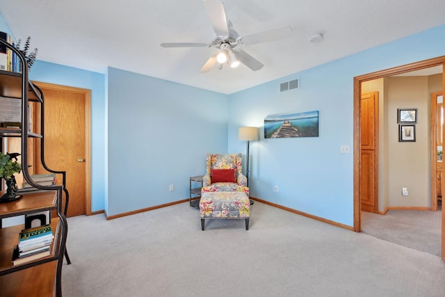
[[[444,56],[444,37],[440,26],[231,95],[229,152],[245,154],[238,127],[261,131],[250,143],[251,195],[352,226],[353,78]],[[296,78],[300,89],[280,93],[281,82]],[[266,115],[315,110],[318,138],[264,139]],[[350,154],[341,154],[340,145],[350,145]]]

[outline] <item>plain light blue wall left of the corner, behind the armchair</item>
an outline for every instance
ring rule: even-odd
[[[188,198],[205,153],[227,152],[228,96],[112,67],[107,75],[106,214]]]

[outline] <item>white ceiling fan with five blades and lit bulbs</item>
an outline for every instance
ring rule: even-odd
[[[255,45],[260,42],[269,42],[289,38],[292,33],[290,26],[281,26],[275,29],[261,31],[249,35],[239,36],[227,22],[224,4],[218,0],[203,0],[204,8],[209,15],[211,25],[216,33],[216,38],[210,43],[202,42],[166,42],[161,43],[161,47],[216,47],[220,49],[218,54],[213,55],[202,66],[201,72],[208,72],[217,65],[222,69],[225,63],[232,68],[243,63],[253,71],[260,70],[264,65],[250,54],[239,49],[238,46]]]

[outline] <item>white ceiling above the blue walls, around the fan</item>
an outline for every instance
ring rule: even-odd
[[[202,0],[0,0],[0,12],[15,38],[31,36],[39,60],[101,73],[111,66],[225,94],[445,24],[444,0],[223,3],[240,35],[293,29],[289,39],[244,47],[264,64],[261,70],[241,65],[200,73],[217,49],[160,46],[215,38]],[[309,42],[314,33],[324,40]]]

